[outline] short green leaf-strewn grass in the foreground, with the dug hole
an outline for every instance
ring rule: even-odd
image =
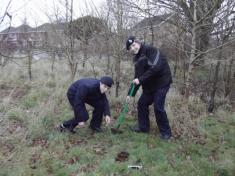
[[[122,127],[125,132],[118,135],[111,134],[109,128],[104,128],[101,134],[92,134],[87,128],[79,129],[75,135],[52,130],[45,138],[47,145],[39,139],[28,145],[19,142],[17,148],[20,150],[13,153],[13,162],[2,164],[1,168],[5,169],[1,169],[0,175],[234,174],[235,130],[229,122],[221,124],[212,118],[202,120],[207,132],[204,145],[183,139],[162,141],[156,134],[133,134],[127,125],[134,123],[134,119],[128,120]],[[117,162],[115,158],[121,151],[128,152],[129,158]],[[128,169],[128,165],[135,164],[142,165],[143,169]]]

